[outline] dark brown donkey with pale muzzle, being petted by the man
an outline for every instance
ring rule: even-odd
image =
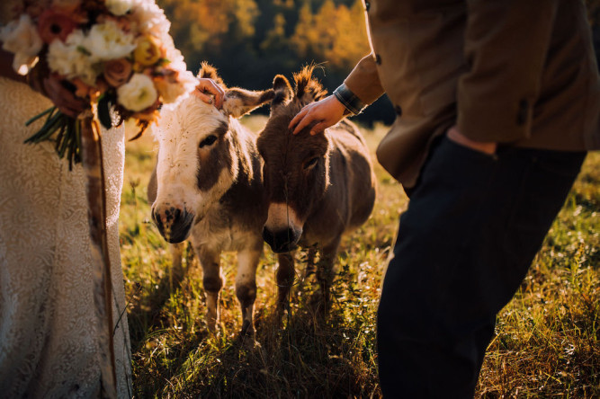
[[[353,123],[342,120],[315,136],[309,128],[292,135],[288,125],[300,109],[327,93],[312,76],[313,67],[288,80],[273,80],[271,115],[257,146],[264,159],[263,179],[268,199],[264,241],[279,253],[279,306],[288,304],[295,271],[293,250],[309,248],[307,274],[320,251],[317,279],[327,308],[334,262],[342,234],[361,226],[371,215],[376,181],[369,150]]]

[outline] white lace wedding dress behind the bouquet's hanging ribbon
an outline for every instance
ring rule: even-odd
[[[50,102],[0,77],[0,396],[94,397],[98,327],[81,164],[52,143],[25,145]],[[123,129],[103,131],[119,397],[130,397],[130,341],[118,236]]]

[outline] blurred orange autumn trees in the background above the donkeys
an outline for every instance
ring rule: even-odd
[[[369,52],[361,0],[157,0],[188,67],[206,60],[229,85],[264,89],[318,63],[331,92]],[[391,105],[362,117],[390,122]]]

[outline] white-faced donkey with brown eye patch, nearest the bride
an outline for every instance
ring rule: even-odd
[[[157,165],[148,184],[152,219],[171,244],[193,244],[206,291],[207,324],[214,331],[223,286],[220,253],[237,252],[236,296],[242,334],[254,333],[256,267],[263,252],[266,220],[261,158],[256,135],[236,118],[273,99],[273,90],[228,89],[217,71],[202,64],[199,77],[225,89],[223,109],[191,96],[161,111],[154,129]],[[175,251],[176,253],[176,251]],[[179,253],[181,262],[181,253]]]

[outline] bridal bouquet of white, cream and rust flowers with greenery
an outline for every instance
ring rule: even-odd
[[[140,130],[158,107],[192,92],[197,81],[169,35],[170,22],[154,0],[24,0],[21,15],[0,30],[21,75],[53,75],[89,102],[106,129],[132,118]],[[112,113],[113,112],[113,113]],[[81,161],[81,119],[53,107],[27,142],[53,140],[69,166]],[[135,137],[134,137],[135,138]]]

